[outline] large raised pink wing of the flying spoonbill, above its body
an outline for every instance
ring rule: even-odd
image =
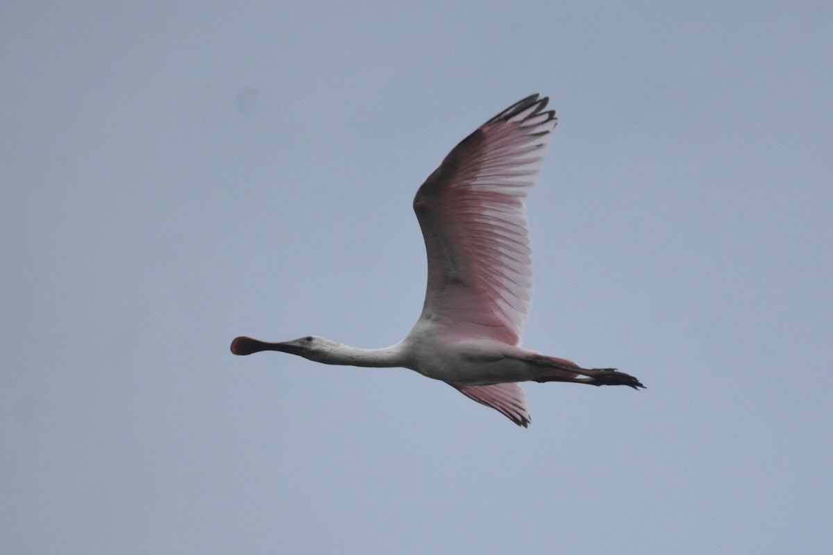
[[[547,100],[526,97],[486,121],[416,192],[428,255],[421,319],[447,334],[520,339],[532,275],[523,201],[557,122]]]

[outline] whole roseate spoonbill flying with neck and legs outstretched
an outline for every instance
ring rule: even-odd
[[[386,349],[357,349],[317,335],[282,343],[238,337],[232,353],[274,350],[324,364],[401,366],[524,427],[531,419],[518,382],[644,388],[616,369],[585,369],[518,346],[531,292],[523,203],[558,121],[555,111],[544,111],[548,100],[526,97],[486,121],[416,191],[428,285],[422,314],[405,339]]]

